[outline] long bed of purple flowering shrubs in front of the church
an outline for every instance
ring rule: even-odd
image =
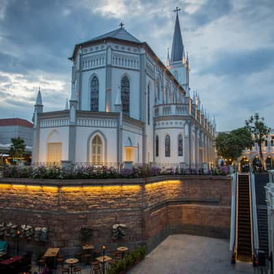
[[[58,166],[3,166],[3,177],[29,179],[115,179],[115,178],[145,178],[160,175],[228,175],[227,166],[221,169],[208,169],[204,173],[199,168],[172,168],[147,165],[133,166],[132,169],[119,169],[114,166],[71,165],[66,169]]]

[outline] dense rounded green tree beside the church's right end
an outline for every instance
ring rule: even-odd
[[[253,145],[251,133],[246,127],[234,129],[230,133],[220,133],[216,139],[216,149],[218,155],[227,158],[229,163],[237,160],[244,149]]]

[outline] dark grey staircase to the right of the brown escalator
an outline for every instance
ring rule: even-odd
[[[269,256],[269,234],[267,222],[266,195],[264,186],[269,182],[268,173],[255,174],[255,188],[257,200],[257,220],[260,250],[265,252],[265,258]]]

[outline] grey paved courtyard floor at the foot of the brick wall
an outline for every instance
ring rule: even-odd
[[[129,274],[230,274],[253,273],[251,264],[230,268],[229,241],[172,235],[156,247]]]

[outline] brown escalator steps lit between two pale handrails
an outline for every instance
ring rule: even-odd
[[[237,260],[251,262],[251,217],[249,175],[238,175],[238,234]]]

